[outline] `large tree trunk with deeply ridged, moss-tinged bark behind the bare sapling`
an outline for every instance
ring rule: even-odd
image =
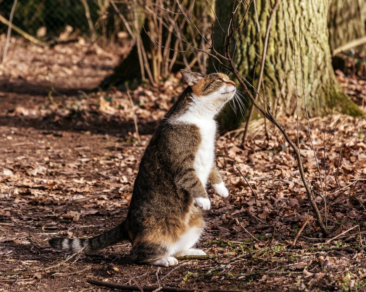
[[[214,47],[224,53],[224,33],[227,30],[233,5],[238,1],[217,1]],[[246,15],[239,36],[234,62],[239,72],[251,85],[258,80],[263,40],[272,6],[275,0],[255,0]],[[236,7],[236,6],[235,6]],[[294,66],[294,43],[296,50],[297,97],[299,115],[305,115],[302,91],[299,32],[302,48],[302,69],[307,110],[310,116],[322,116],[331,112],[342,112],[353,116],[364,112],[351,101],[337,83],[331,65],[327,28],[328,0],[291,1],[281,0],[272,21],[268,39],[261,95],[270,103],[273,113],[293,115],[296,113],[296,82]],[[234,27],[245,12],[239,5]],[[301,24],[299,25],[301,16]],[[292,40],[292,17],[294,18],[294,43]],[[299,30],[300,27],[300,30]],[[241,30],[239,30],[240,32]],[[239,32],[234,35],[238,37]],[[231,51],[231,54],[233,52]],[[264,106],[264,102],[259,98]]]

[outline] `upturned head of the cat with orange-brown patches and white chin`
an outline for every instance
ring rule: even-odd
[[[236,92],[236,85],[226,74],[202,74],[180,70],[184,80],[192,89],[191,99],[197,107],[219,112]]]

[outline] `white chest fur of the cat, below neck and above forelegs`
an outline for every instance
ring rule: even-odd
[[[194,124],[199,128],[201,143],[195,154],[193,167],[197,177],[206,187],[214,164],[216,122],[213,119],[195,120]]]

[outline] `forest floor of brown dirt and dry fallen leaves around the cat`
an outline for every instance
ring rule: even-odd
[[[56,235],[87,238],[122,222],[143,151],[184,88],[179,75],[133,88],[133,109],[126,91],[88,92],[118,62],[116,52],[83,42],[46,49],[12,39],[0,68],[0,291],[111,290],[91,279],[181,289],[364,291],[365,118],[310,119],[329,239],[313,218],[290,147],[258,120],[246,146],[235,132],[217,142],[230,196],[223,200],[209,189],[212,208],[198,245],[210,257],[158,268],[132,263],[128,242],[67,261],[47,247]],[[365,109],[365,76],[337,74]],[[297,141],[296,119],[281,123]],[[305,119],[298,137],[306,176],[321,192]],[[321,196],[315,201],[324,216]]]

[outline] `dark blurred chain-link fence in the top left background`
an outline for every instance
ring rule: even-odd
[[[95,37],[102,31],[101,15],[108,0],[21,0],[12,23],[38,38],[57,38],[63,32]],[[14,0],[0,0],[0,15],[9,19]],[[0,34],[8,26],[0,22]]]

